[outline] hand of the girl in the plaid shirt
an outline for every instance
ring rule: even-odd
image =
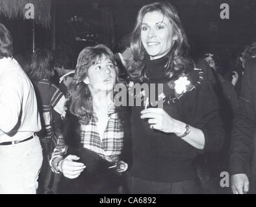
[[[64,158],[64,160],[60,161],[60,171],[63,173],[65,177],[69,179],[75,179],[79,177],[84,168],[83,163],[81,162],[73,162],[73,160],[79,160],[79,157],[75,155],[68,155],[68,157]]]

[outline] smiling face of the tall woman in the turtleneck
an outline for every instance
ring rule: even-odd
[[[173,45],[172,23],[159,11],[148,12],[142,19],[140,38],[151,60],[167,54]]]

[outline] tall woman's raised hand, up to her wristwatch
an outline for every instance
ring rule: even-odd
[[[175,133],[177,136],[185,132],[185,123],[172,118],[164,109],[148,108],[144,109],[140,118],[148,118],[151,129],[157,129],[164,133]]]

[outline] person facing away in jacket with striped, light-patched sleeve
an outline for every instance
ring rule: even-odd
[[[34,83],[38,109],[40,111],[42,130],[38,133],[43,148],[43,165],[39,176],[39,193],[56,193],[57,180],[52,179],[52,172],[49,166],[53,146],[57,140],[53,140],[53,110],[58,114],[64,112],[64,95],[58,87],[51,83],[53,76],[53,54],[46,49],[36,50],[31,57],[30,77]],[[55,177],[57,179],[57,177]],[[53,191],[53,192],[52,192]]]

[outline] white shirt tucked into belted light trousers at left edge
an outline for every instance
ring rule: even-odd
[[[36,95],[14,58],[0,60],[0,142],[23,140],[40,131]]]

